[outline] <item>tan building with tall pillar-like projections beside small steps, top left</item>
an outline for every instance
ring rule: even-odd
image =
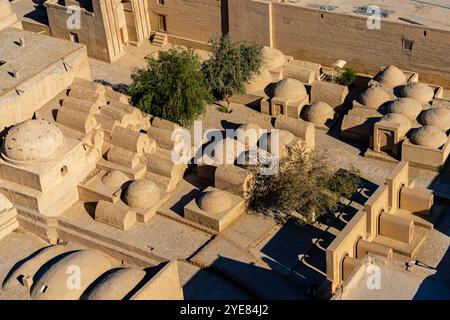
[[[113,62],[126,45],[150,37],[145,0],[52,0],[45,3],[53,37],[86,45],[90,57]]]

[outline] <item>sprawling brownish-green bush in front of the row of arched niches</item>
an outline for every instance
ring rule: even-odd
[[[250,187],[245,194],[247,209],[283,223],[313,223],[333,212],[342,197],[353,195],[360,185],[358,171],[332,170],[315,153],[292,148],[279,162],[275,175],[262,175],[253,167]]]

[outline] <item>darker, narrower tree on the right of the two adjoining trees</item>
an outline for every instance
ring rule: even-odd
[[[211,93],[217,100],[245,93],[245,83],[257,74],[262,64],[261,47],[235,42],[229,35],[210,40],[212,55],[203,63],[203,73]]]

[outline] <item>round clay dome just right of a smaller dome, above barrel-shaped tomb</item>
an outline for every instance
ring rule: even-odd
[[[125,202],[132,208],[149,208],[159,199],[159,188],[150,180],[134,180],[125,192]]]

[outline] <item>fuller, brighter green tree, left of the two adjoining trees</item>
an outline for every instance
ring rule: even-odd
[[[192,49],[161,51],[149,57],[148,66],[132,74],[128,88],[133,105],[140,110],[181,125],[190,125],[213,102]]]

